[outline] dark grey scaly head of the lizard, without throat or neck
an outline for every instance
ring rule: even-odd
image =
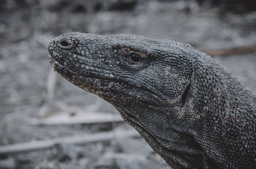
[[[48,50],[54,70],[113,105],[179,107],[193,70],[191,59],[180,57],[182,47],[132,34],[67,33],[54,38]]]

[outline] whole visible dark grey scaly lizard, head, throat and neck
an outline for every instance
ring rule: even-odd
[[[67,33],[54,70],[111,103],[172,168],[255,168],[256,96],[190,45]]]

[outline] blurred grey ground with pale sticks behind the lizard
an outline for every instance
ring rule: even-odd
[[[0,169],[167,169],[111,105],[52,71],[67,32],[189,43],[256,92],[256,1],[0,0]]]

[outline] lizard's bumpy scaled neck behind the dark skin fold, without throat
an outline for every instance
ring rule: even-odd
[[[189,102],[193,115],[188,119],[196,117],[191,128],[208,161],[221,168],[244,168],[237,164],[241,154],[244,154],[253,163],[256,96],[222,66],[207,59],[198,63],[195,81],[191,84],[191,95]],[[239,117],[244,117],[246,121]],[[252,135],[241,138],[243,133]],[[246,168],[252,167],[252,163]]]

